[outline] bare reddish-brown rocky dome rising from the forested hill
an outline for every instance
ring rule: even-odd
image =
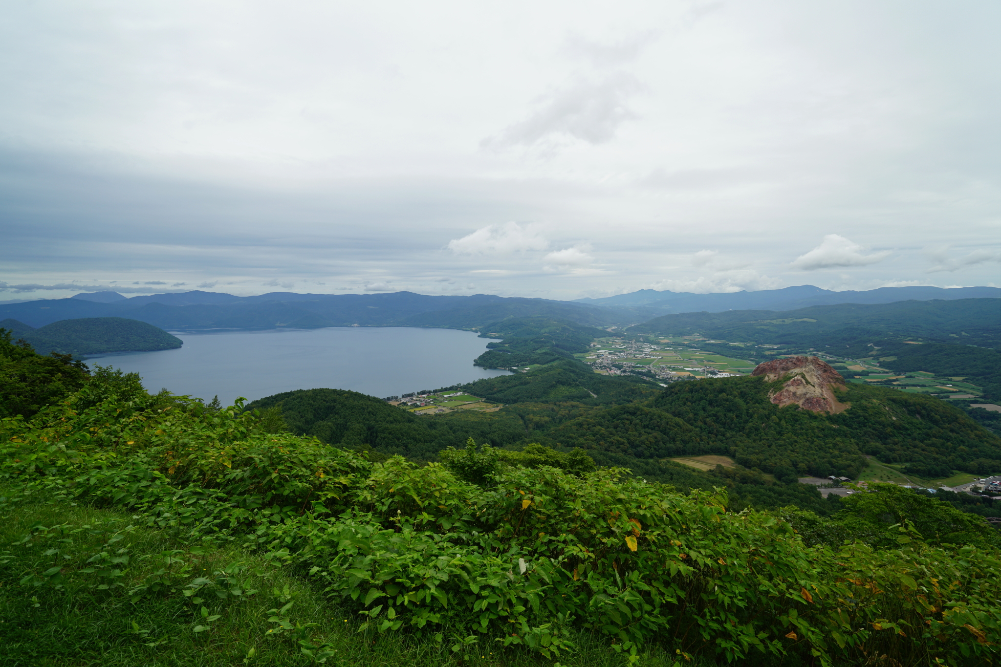
[[[851,407],[834,393],[846,389],[845,379],[817,357],[774,359],[759,365],[751,375],[764,375],[768,382],[786,380],[782,389],[769,394],[769,399],[782,408],[795,403],[803,410],[836,414]]]

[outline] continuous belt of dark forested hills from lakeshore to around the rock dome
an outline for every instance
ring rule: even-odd
[[[851,384],[839,414],[769,400],[774,383],[761,377],[675,382],[661,388],[631,377],[590,373],[558,362],[532,373],[503,376],[463,389],[507,404],[491,414],[427,419],[354,392],[287,392],[251,407],[280,405],[295,433],[339,446],[370,445],[386,454],[433,459],[472,436],[493,446],[538,442],[561,451],[582,448],[600,462],[636,468],[664,481],[700,486],[665,467],[672,457],[717,454],[749,470],[795,480],[828,475],[857,478],[866,456],[906,463],[924,477],[952,470],[1001,470],[1001,438],[939,399]],[[760,480],[751,480],[759,481]]]

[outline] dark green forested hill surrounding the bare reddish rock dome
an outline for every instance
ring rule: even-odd
[[[770,389],[761,377],[676,382],[655,398],[547,429],[540,442],[638,459],[718,454],[747,468],[791,468],[800,476],[856,478],[866,455],[910,463],[926,477],[984,465],[1001,471],[1001,438],[939,399],[852,384],[838,397],[852,407],[829,415],[779,408]]]

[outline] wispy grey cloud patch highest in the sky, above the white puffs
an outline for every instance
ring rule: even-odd
[[[618,72],[601,81],[582,81],[554,91],[540,99],[545,104],[536,113],[483,140],[482,145],[532,147],[548,139],[567,138],[604,144],[620,125],[637,118],[626,102],[639,89],[633,76]]]

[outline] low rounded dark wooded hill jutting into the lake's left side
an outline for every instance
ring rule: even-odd
[[[123,317],[85,317],[46,324],[24,334],[35,349],[62,354],[102,354],[172,350],[180,338],[163,329]]]

